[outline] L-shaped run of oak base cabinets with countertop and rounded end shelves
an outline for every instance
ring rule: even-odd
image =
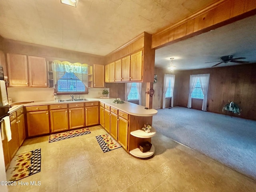
[[[141,137],[134,131],[138,132],[146,123],[152,124],[152,116],[157,114],[157,110],[145,109],[130,102],[116,104],[113,100],[87,98],[86,101],[70,102],[34,101],[14,105],[10,108],[10,114],[24,109],[27,138],[100,124],[128,153],[139,158],[152,156],[154,146],[142,153],[139,144],[151,142],[155,132]]]

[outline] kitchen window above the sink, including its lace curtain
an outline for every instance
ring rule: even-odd
[[[54,92],[88,94],[88,65],[52,61]]]

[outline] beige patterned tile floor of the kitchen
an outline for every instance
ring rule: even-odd
[[[39,186],[10,186],[9,192],[256,192],[256,181],[156,134],[154,157],[140,160],[123,148],[102,152],[91,134],[58,142],[49,136],[25,140],[17,154],[41,148],[41,172],[20,181],[40,181]]]

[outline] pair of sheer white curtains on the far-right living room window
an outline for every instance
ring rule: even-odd
[[[196,82],[197,82],[198,78],[199,78],[199,81],[200,81],[202,92],[204,94],[202,110],[206,111],[207,110],[207,95],[208,95],[208,86],[209,86],[210,74],[190,75],[189,95],[188,95],[187,108],[191,108],[192,92],[193,92],[194,88],[196,87]]]

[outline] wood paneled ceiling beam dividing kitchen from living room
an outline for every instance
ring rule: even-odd
[[[256,14],[255,0],[220,0],[152,35],[158,49]]]

